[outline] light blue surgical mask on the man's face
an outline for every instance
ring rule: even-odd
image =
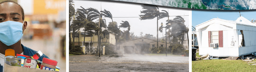
[[[23,36],[23,23],[16,21],[5,21],[0,23],[0,41],[7,46],[17,43]]]

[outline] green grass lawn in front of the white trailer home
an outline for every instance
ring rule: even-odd
[[[198,55],[198,53],[197,53]],[[251,62],[256,62],[253,60]],[[199,60],[192,61],[193,72],[256,72],[254,63],[245,62],[242,60]]]

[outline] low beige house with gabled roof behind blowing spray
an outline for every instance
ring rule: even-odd
[[[158,41],[159,47],[166,47],[165,42]],[[169,47],[170,44],[167,43],[167,47]],[[129,40],[126,42],[123,42],[122,44],[117,44],[117,51],[123,54],[130,54],[130,53],[146,53],[148,52],[149,48],[157,47],[156,40],[151,40],[147,38],[138,38],[134,40]]]

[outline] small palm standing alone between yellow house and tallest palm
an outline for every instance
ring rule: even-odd
[[[125,36],[128,36],[128,38],[126,37],[126,40],[130,40],[130,29],[131,29],[131,26],[130,26],[128,21],[122,21],[122,22],[123,23],[120,23],[121,25],[119,25],[118,27],[120,27],[120,28],[127,28],[128,29],[128,32],[125,32],[128,35],[125,35]]]

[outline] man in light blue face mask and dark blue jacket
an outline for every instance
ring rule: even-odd
[[[0,2],[0,64],[4,65],[6,49],[13,49],[16,54],[33,56],[34,51],[21,44],[21,37],[27,27],[27,21],[24,21],[24,10],[13,1]],[[42,55],[38,60],[48,58]]]

